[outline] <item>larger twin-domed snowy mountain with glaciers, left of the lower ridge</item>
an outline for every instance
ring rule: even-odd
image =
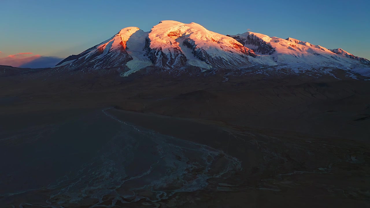
[[[151,65],[165,69],[248,67],[253,66],[250,61],[253,57],[256,57],[253,50],[199,24],[161,21],[150,32],[137,27],[124,28],[103,43],[67,57],[57,67],[102,69],[123,66],[128,75]]]

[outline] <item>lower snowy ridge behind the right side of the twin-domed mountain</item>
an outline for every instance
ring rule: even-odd
[[[364,64],[370,64],[369,60],[355,57],[346,51],[330,50],[294,38],[269,37],[253,32],[229,37],[238,40],[245,47],[251,48],[257,54],[256,58],[260,60],[260,63],[265,65],[272,65],[271,61],[274,61],[275,65],[306,65],[309,67],[336,67],[350,70],[365,67]]]

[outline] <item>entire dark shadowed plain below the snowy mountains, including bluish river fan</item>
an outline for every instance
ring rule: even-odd
[[[0,176],[1,207],[370,206],[370,81],[304,74],[241,75],[228,80],[218,74],[135,78],[98,71],[61,77],[37,71],[14,74],[0,77],[1,165],[6,170]],[[121,138],[117,132],[132,134]],[[128,140],[131,137],[136,139]],[[127,176],[118,173],[130,170],[128,175],[138,175],[149,166],[122,163],[126,169],[118,171],[117,158],[129,157],[118,148],[125,148],[128,143],[120,142],[126,140],[142,148],[143,153],[134,158],[148,164],[149,158],[158,156],[151,147],[159,147],[159,140],[167,142],[161,145],[172,142],[174,154],[169,151],[163,158],[172,158],[177,169],[158,169],[148,177],[174,176],[186,161],[200,165],[184,169],[186,174],[180,171],[175,175],[178,180],[166,188],[153,186],[152,191],[136,191],[136,198],[127,197],[127,190],[143,181],[122,182]],[[99,197],[86,192],[73,201],[70,198],[91,183],[58,180],[75,195],[57,194],[55,178],[68,175],[66,170],[79,170],[101,157],[99,152],[111,150],[104,148],[117,145],[115,156],[107,156],[115,161],[112,164],[117,166],[110,167],[117,174],[93,181],[101,180],[104,190],[109,189],[104,181],[112,178],[120,185],[112,185],[111,192]],[[185,147],[194,155],[204,150],[212,157],[187,156]],[[89,167],[100,167],[98,161]],[[229,167],[226,172],[225,167]],[[197,180],[201,175],[207,176],[203,182]],[[184,181],[194,182],[196,188]]]

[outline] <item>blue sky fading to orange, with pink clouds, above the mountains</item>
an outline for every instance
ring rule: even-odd
[[[124,27],[195,22],[221,34],[250,31],[343,48],[370,59],[368,0],[1,0],[0,57],[67,57]]]

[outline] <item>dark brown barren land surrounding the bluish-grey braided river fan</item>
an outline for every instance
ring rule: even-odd
[[[0,77],[0,137],[68,117],[44,118],[48,112],[115,107],[107,112],[121,121],[208,145],[242,162],[242,170],[210,178],[202,190],[114,207],[370,207],[370,81],[340,72],[342,80],[304,74],[228,80],[221,73],[56,74]],[[213,166],[222,164],[219,158]],[[40,195],[0,196],[0,205],[17,207]],[[109,195],[105,199],[95,207],[112,203]],[[96,203],[87,198],[61,205]]]

